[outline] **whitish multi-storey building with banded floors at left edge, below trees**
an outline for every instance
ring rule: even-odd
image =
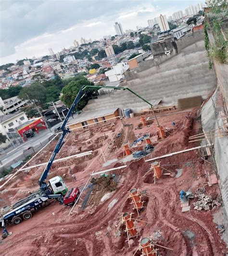
[[[0,97],[0,108],[2,108],[2,111],[0,110],[0,116],[4,114],[12,114],[20,110],[20,108],[24,107],[26,104],[27,100],[21,100],[18,96],[6,100],[2,100]]]

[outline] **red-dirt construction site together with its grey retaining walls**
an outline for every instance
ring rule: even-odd
[[[228,101],[219,80],[226,78],[208,69],[203,40],[194,40],[126,75],[125,86],[149,103],[125,87],[89,101],[84,119],[66,124],[45,178],[60,176],[80,194],[7,223],[2,256],[228,253]],[[193,71],[197,80],[187,77]],[[0,181],[2,216],[36,197],[61,136]]]

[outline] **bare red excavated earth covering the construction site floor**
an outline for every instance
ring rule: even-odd
[[[122,177],[111,197],[107,197],[97,207],[88,207],[79,213],[76,213],[78,210],[78,207],[76,207],[76,212],[70,217],[68,217],[68,214],[71,207],[63,207],[58,202],[50,204],[45,209],[34,213],[30,220],[8,228],[9,231],[13,232],[13,235],[0,244],[1,255],[130,256],[139,247],[139,238],[150,236],[155,237],[158,244],[173,249],[171,251],[158,247],[160,255],[225,255],[226,246],[215,228],[215,223],[213,223],[213,214],[217,211],[216,208],[210,211],[198,212],[193,209],[194,199],[191,199],[190,211],[181,213],[179,191],[184,189],[194,193],[197,188],[202,187],[207,182],[204,176],[206,166],[203,164],[198,151],[190,151],[160,160],[161,165],[169,171],[177,173],[176,169],[182,169],[178,178],[163,175],[156,180],[155,185],[151,173],[142,178],[146,171],[150,169],[151,164],[151,162],[145,162],[145,159],[199,145],[196,142],[194,144],[188,142],[188,137],[198,133],[201,128],[197,111],[197,109],[193,109],[159,117],[160,125],[169,129],[169,136],[164,141],[155,143],[154,151],[150,155],[127,162],[127,168],[115,171],[116,174],[120,174]],[[128,124],[133,124],[133,131],[137,137],[145,133],[153,134],[156,131],[155,122],[149,127],[138,129],[139,120],[140,116],[137,116],[126,121]],[[176,123],[175,126],[172,126],[173,121]],[[101,149],[103,151],[119,125],[120,122],[116,122],[115,130],[110,126],[110,130],[105,131],[107,139],[102,142]],[[94,141],[103,135],[102,130],[101,127],[97,130],[91,130],[90,140]],[[70,136],[73,136],[74,140]],[[69,135],[68,138],[71,138],[70,140],[73,142],[77,140],[78,134]],[[79,147],[80,142],[77,141],[76,143],[76,147]],[[67,144],[64,145],[65,149],[63,148],[64,154],[67,154],[64,151],[67,151],[66,146]],[[116,156],[120,155],[121,152],[123,153],[122,147],[116,149],[115,156],[107,158],[106,161],[117,158]],[[92,171],[101,171],[122,165],[116,161],[108,167],[101,168],[103,162],[99,162],[100,158],[102,160],[99,152],[96,157],[86,161],[85,166],[80,163],[83,169],[78,168],[76,163],[72,164],[71,169],[76,175],[76,182],[73,183],[70,178],[67,178],[67,185],[80,187],[87,182]],[[68,167],[65,168],[65,172],[67,172],[67,169]],[[62,173],[64,168],[59,171]],[[41,170],[37,172],[40,175]],[[58,169],[56,173],[58,173]],[[5,187],[9,193],[1,194],[4,203],[12,202],[15,199],[13,196],[18,194],[19,189],[31,188],[31,186],[29,188],[27,186],[29,175],[33,175],[32,172],[28,172],[27,177],[24,174],[19,175],[17,176],[20,177],[19,182],[18,180],[13,181]],[[15,187],[15,184],[18,183],[19,185]],[[131,200],[127,199],[129,190],[132,188],[139,188],[148,195],[147,197],[144,194],[142,197],[145,201],[145,209],[140,213],[140,216],[137,215],[136,210],[133,210],[133,205],[130,204]],[[220,196],[218,185],[206,186],[206,193],[213,198]],[[0,203],[2,204],[2,201]],[[125,226],[121,224],[121,215],[126,211],[134,213],[133,218],[148,222],[136,222],[138,237],[130,239],[130,247],[128,247],[127,234],[124,232]],[[137,251],[135,255],[139,256],[140,251]]]

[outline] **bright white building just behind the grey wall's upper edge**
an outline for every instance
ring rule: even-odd
[[[105,75],[109,78],[110,82],[120,81],[125,78],[124,73],[129,69],[127,62],[120,62],[113,66],[112,70],[106,71]]]

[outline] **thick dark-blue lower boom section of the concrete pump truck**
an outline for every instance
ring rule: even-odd
[[[66,133],[70,132],[69,129],[65,128],[65,125],[66,125],[72,111],[74,110],[76,104],[84,97],[85,94],[83,94],[82,96],[81,95],[82,95],[82,90],[80,89],[76,98],[75,98],[75,100],[74,100],[74,102],[73,102],[73,104],[71,105],[64,121],[63,121],[62,126],[61,126],[61,129],[63,130],[63,133],[61,134],[61,136],[59,138],[59,141],[57,142],[57,144],[55,146],[55,149],[54,149],[53,153],[51,154],[51,156],[49,158],[49,161],[48,161],[43,173],[41,174],[41,176],[39,178],[38,184],[39,184],[39,187],[43,190],[45,190],[45,188],[47,187],[47,184],[46,184],[45,180],[46,180],[46,178],[48,176],[48,173],[51,169],[51,165],[52,165],[52,163],[55,159],[55,156],[60,151],[61,147],[63,146],[63,139],[64,139]]]

